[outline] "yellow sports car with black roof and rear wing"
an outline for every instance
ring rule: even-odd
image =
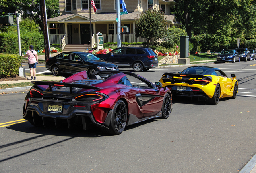
[[[235,74],[231,77],[218,68],[193,66],[179,73],[165,73],[159,82],[168,87],[173,96],[198,97],[218,104],[221,98],[237,96],[238,82]]]

